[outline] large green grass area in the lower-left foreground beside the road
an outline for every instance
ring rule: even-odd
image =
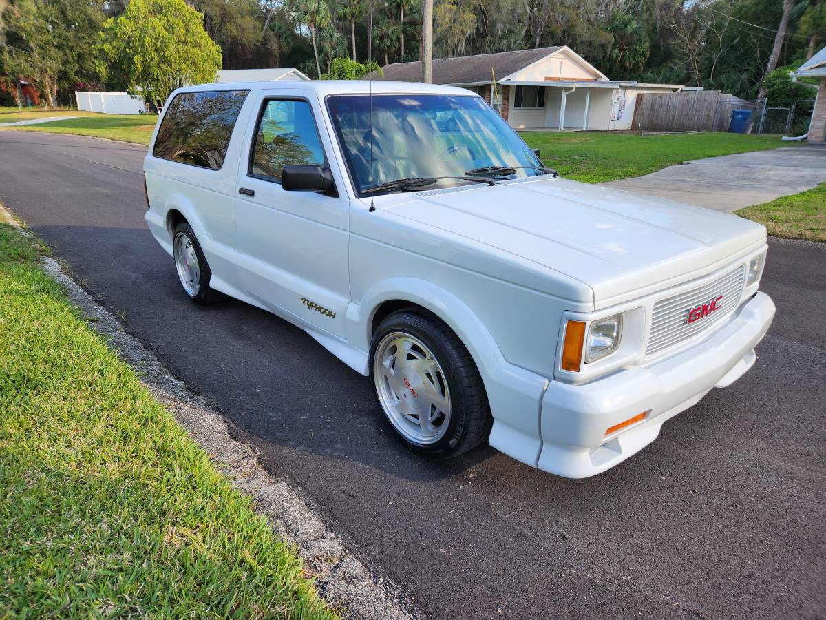
[[[0,617],[330,618],[40,251],[0,225]]]

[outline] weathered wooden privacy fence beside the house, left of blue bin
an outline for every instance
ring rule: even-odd
[[[729,117],[720,119],[718,103],[745,101],[719,90],[641,93],[634,107],[632,129],[641,131],[726,131]]]

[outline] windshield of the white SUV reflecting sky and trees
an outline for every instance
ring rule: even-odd
[[[478,97],[373,95],[372,174],[370,97],[335,95],[327,98],[327,107],[360,196],[369,188],[398,179],[463,177],[491,166],[513,168],[510,174],[491,172],[496,179],[546,174],[541,169],[519,168],[542,164],[520,136]],[[471,182],[439,180],[442,185]]]

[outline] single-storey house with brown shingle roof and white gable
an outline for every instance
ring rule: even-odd
[[[421,62],[387,64],[373,79],[420,82]],[[516,129],[629,129],[640,93],[678,84],[612,81],[567,45],[433,60],[433,82],[478,93]]]

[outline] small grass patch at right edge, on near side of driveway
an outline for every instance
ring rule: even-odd
[[[826,183],[814,189],[783,196],[771,203],[735,211],[760,222],[770,235],[785,239],[826,242]]]

